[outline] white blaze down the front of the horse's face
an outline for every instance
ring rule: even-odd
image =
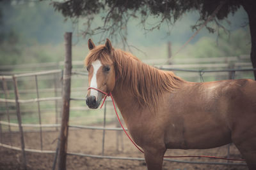
[[[95,60],[92,62],[92,66],[93,66],[93,75],[92,75],[92,80],[91,80],[91,84],[89,85],[89,87],[93,87],[95,89],[98,89],[98,85],[97,85],[97,71],[99,70],[100,66],[102,66],[102,64],[100,63],[100,60]],[[94,89],[90,89],[91,90],[91,94],[90,96],[95,96],[96,100],[97,100],[97,96],[98,96],[98,91],[94,90]]]

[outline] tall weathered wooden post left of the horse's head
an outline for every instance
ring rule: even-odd
[[[60,151],[58,159],[58,169],[66,169],[67,146],[68,146],[68,118],[70,105],[70,84],[72,69],[72,32],[65,32],[65,67],[63,74],[63,94],[62,94],[62,117],[60,131]]]

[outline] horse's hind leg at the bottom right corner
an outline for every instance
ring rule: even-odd
[[[232,134],[232,141],[246,159],[248,168],[256,169],[256,125],[248,128],[247,131],[235,132]]]

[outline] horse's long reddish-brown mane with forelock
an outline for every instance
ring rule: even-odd
[[[114,64],[116,83],[127,92],[131,92],[142,106],[147,106],[150,111],[156,111],[163,98],[163,93],[173,92],[179,88],[181,78],[171,71],[162,71],[156,67],[148,66],[129,52],[112,50],[109,55],[104,45],[90,50],[84,60],[88,66],[95,60],[101,60],[102,64]]]

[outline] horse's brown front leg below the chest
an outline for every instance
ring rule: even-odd
[[[161,170],[163,166],[163,158],[166,148],[147,148],[144,149],[145,160],[148,170]]]

